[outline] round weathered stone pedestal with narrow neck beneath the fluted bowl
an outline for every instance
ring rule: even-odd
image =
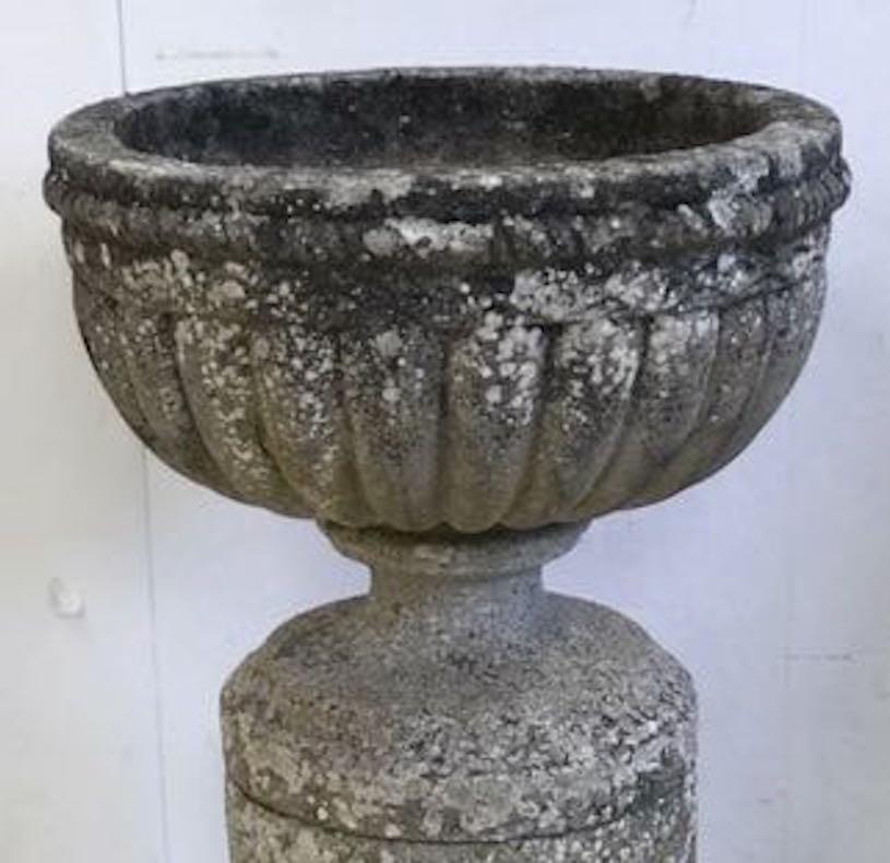
[[[691,682],[542,588],[579,531],[330,529],[371,593],[285,624],[227,684],[233,863],[690,863]]]

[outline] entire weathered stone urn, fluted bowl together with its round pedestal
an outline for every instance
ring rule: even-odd
[[[788,391],[849,191],[835,116],[698,78],[385,70],[116,98],[49,150],[130,427],[373,574],[225,687],[233,863],[693,861],[689,675],[541,570]]]

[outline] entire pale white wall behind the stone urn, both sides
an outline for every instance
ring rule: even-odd
[[[275,622],[366,583],[310,524],[189,485],[124,432],[78,343],[39,198],[50,123],[122,81],[531,61],[757,79],[845,121],[855,194],[785,409],[716,478],[594,525],[550,582],[627,611],[695,672],[704,863],[885,863],[890,4],[121,9],[119,21],[116,0],[7,0],[0,31],[0,861],[224,861],[225,674]]]

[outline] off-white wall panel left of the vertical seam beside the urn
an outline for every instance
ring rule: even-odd
[[[81,347],[40,198],[50,125],[119,90],[114,7],[3,17],[0,860],[158,863],[143,457]]]

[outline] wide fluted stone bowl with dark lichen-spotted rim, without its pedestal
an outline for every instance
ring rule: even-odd
[[[478,532],[737,454],[816,332],[826,107],[568,69],[203,83],[56,127],[45,191],[130,426],[226,495]]]

